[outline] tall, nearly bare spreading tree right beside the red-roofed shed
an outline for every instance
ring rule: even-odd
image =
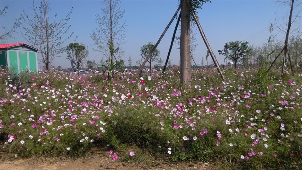
[[[49,65],[58,54],[64,52],[65,48],[62,44],[65,40],[69,39],[73,33],[65,37],[71,25],[67,25],[70,19],[70,12],[60,20],[57,20],[57,14],[54,17],[54,21],[49,21],[48,12],[50,11],[50,5],[46,0],[42,0],[39,9],[34,6],[33,1],[33,18],[28,16],[24,11],[24,15],[21,17],[25,21],[23,26],[24,32],[21,32],[23,37],[29,42],[29,44],[38,48],[41,52],[41,62],[45,64],[45,72],[49,70]]]

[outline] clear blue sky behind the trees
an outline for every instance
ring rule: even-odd
[[[299,1],[301,2],[301,0],[296,0],[296,2]],[[35,0],[34,2],[35,6],[38,6],[40,1]],[[69,41],[65,42],[65,45],[67,46],[70,42],[73,42],[77,36],[77,42],[88,45],[88,59],[99,62],[102,55],[100,52],[92,50],[95,47],[91,46],[93,41],[89,35],[92,34],[95,27],[98,27],[95,23],[95,15],[101,8],[104,8],[101,0],[49,0],[48,2],[51,9],[49,12],[50,18],[55,13],[58,14],[59,19],[63,18],[71,7],[74,7],[71,19],[68,22],[71,24],[70,33],[74,32],[74,34]],[[129,55],[133,61],[132,65],[135,65],[135,62],[141,58],[140,48],[149,41],[156,43],[178,8],[177,4],[178,0],[121,0],[121,9],[126,10],[122,21],[126,20],[125,40],[127,41],[121,46],[125,51],[122,59],[125,60],[126,65],[128,65]],[[5,16],[0,18],[0,25],[7,28],[12,25],[15,18],[23,13],[22,10],[28,15],[32,13],[31,0],[0,0],[0,9],[3,9],[5,5],[8,5],[8,9]],[[301,3],[294,12],[298,9],[301,9]],[[212,3],[205,3],[202,9],[198,9],[197,16],[214,54],[217,55],[218,62],[223,63],[223,56],[219,56],[217,51],[222,50],[225,43],[237,40],[243,41],[244,39],[251,45],[262,45],[268,40],[268,27],[271,23],[275,27],[272,34],[276,35],[278,41],[284,41],[285,32],[277,27],[276,18],[280,18],[277,21],[278,26],[285,26],[288,14],[288,4],[278,4],[273,0],[212,0]],[[176,19],[158,46],[160,57],[164,61],[170,47],[175,24]],[[297,28],[301,24],[301,17],[297,18],[292,28]],[[27,43],[20,31],[22,31],[22,27],[16,29],[16,32],[13,33],[14,38],[9,38],[8,43]],[[0,33],[2,32],[4,31],[0,28]],[[201,58],[205,58],[207,49],[198,31],[196,40],[198,46],[195,51],[195,61],[200,63]],[[174,44],[170,55],[173,64],[179,64],[180,60],[179,50],[176,47],[177,44]],[[211,59],[208,59],[208,63],[211,62]],[[206,64],[206,60],[204,60],[204,63]],[[63,68],[70,67],[64,53],[55,58],[52,65],[62,66]]]

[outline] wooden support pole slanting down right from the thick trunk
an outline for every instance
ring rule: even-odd
[[[192,16],[193,16],[193,18],[194,18],[194,20],[195,20],[195,22],[196,22],[196,24],[197,24],[197,27],[198,27],[198,29],[199,29],[199,31],[200,31],[201,37],[202,37],[204,43],[206,44],[207,49],[208,49],[208,51],[209,51],[209,53],[210,53],[210,55],[211,55],[211,57],[212,57],[212,59],[213,59],[213,62],[214,62],[214,64],[215,64],[215,66],[217,67],[218,72],[219,72],[219,74],[220,74],[222,80],[224,80],[224,75],[223,75],[223,73],[222,73],[222,71],[221,71],[221,68],[220,68],[220,66],[219,66],[219,64],[218,64],[218,61],[217,61],[217,59],[216,59],[216,57],[215,57],[215,55],[214,55],[214,53],[213,53],[213,51],[212,51],[212,49],[211,49],[211,47],[210,47],[208,41],[207,41],[207,38],[206,38],[206,36],[204,35],[204,32],[203,32],[203,30],[202,30],[202,28],[201,28],[201,26],[200,26],[200,23],[199,23],[199,21],[198,21],[196,15],[195,15],[193,9],[190,8],[190,10],[191,10]]]

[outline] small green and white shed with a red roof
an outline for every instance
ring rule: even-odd
[[[38,49],[25,43],[0,44],[0,66],[12,73],[38,71]]]

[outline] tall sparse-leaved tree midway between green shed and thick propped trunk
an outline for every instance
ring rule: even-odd
[[[101,51],[106,56],[106,60],[113,64],[114,58],[111,55],[110,46],[118,49],[115,53],[117,60],[124,55],[120,44],[124,43],[126,21],[121,24],[120,20],[125,10],[120,9],[120,0],[103,0],[103,5],[105,7],[101,9],[100,14],[96,15],[96,23],[99,27],[93,30],[90,37],[97,46],[97,51]]]

